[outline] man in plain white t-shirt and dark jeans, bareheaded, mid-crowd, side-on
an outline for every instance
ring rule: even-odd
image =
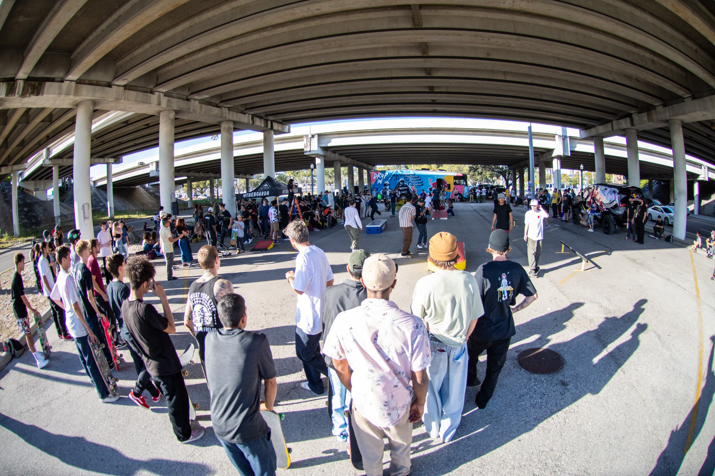
[[[303,363],[307,382],[300,384],[305,390],[322,395],[325,388],[320,374],[327,377],[327,365],[320,354],[322,335],[322,300],[325,288],[332,286],[332,270],[325,253],[308,243],[308,228],[301,220],[290,222],[284,233],[298,251],[295,272],[288,271],[285,278],[298,295],[295,308],[295,353]]]

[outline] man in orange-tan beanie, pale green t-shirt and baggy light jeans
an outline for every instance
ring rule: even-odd
[[[457,238],[440,231],[430,239],[428,260],[438,269],[420,278],[412,296],[412,313],[425,321],[432,363],[422,421],[430,437],[452,439],[462,418],[467,385],[467,338],[483,315],[477,280],[454,267]]]

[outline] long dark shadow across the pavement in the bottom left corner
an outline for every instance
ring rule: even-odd
[[[139,472],[159,475],[209,475],[209,467],[200,463],[158,460],[134,460],[112,447],[88,441],[84,437],[56,435],[36,425],[26,425],[0,414],[0,426],[24,440],[28,445],[56,457],[65,465],[106,475],[132,476]]]

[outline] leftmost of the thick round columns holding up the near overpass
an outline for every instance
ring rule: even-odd
[[[74,227],[82,233],[82,238],[87,240],[94,237],[92,192],[89,187],[93,112],[94,101],[82,101],[77,105],[77,118],[74,120]]]

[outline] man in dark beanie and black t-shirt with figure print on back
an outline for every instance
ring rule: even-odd
[[[467,386],[479,385],[477,361],[479,355],[487,351],[487,371],[475,403],[484,408],[494,394],[496,381],[506,362],[511,338],[516,334],[513,313],[526,308],[538,297],[526,270],[506,259],[511,251],[509,236],[504,230],[495,230],[489,236],[489,248],[493,260],[480,265],[474,273],[482,298],[484,315],[479,318],[473,332],[467,339],[469,354]],[[523,294],[524,300],[516,304],[516,295]]]

